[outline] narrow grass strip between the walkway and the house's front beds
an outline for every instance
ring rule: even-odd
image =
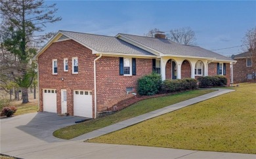
[[[172,105],[174,103],[179,103],[180,101],[184,101],[192,97],[202,96],[203,94],[207,94],[209,92],[213,92],[213,90],[192,90],[170,96],[145,99],[115,113],[114,115],[104,116],[102,118],[96,118],[83,123],[68,126],[66,128],[56,130],[53,135],[61,139],[72,139],[79,135],[83,135],[84,133],[100,129],[105,126],[109,126],[111,124],[115,124],[117,122],[121,122],[123,120],[127,120],[129,118],[133,118],[168,105]]]

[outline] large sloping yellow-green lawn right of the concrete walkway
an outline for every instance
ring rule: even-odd
[[[256,154],[256,83],[234,89],[89,142]]]

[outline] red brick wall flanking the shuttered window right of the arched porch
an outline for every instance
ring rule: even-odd
[[[217,63],[212,62],[208,64],[208,76],[217,75]],[[227,86],[230,84],[230,63],[226,63],[226,75],[224,75],[228,80]]]

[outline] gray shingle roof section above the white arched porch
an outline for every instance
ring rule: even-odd
[[[232,60],[231,58],[227,58],[225,56],[217,54],[216,52],[206,50],[199,46],[186,46],[175,43],[168,39],[156,39],[152,37],[142,37],[137,35],[127,35],[121,33],[119,33],[119,35],[127,37],[128,39],[136,41],[137,43],[143,44],[150,48],[153,48],[154,50],[158,50],[163,54],[216,58],[217,60]]]

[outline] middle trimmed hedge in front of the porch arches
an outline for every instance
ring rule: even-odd
[[[167,79],[162,83],[161,92],[170,93],[181,90],[194,90],[196,88],[198,88],[198,81],[195,79]]]

